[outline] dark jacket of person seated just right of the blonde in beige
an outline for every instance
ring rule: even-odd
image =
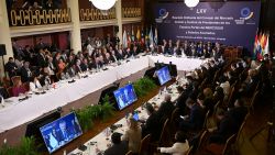
[[[152,141],[158,141],[162,131],[160,120],[160,115],[156,112],[152,113],[145,124],[142,125],[142,137],[151,134]]]

